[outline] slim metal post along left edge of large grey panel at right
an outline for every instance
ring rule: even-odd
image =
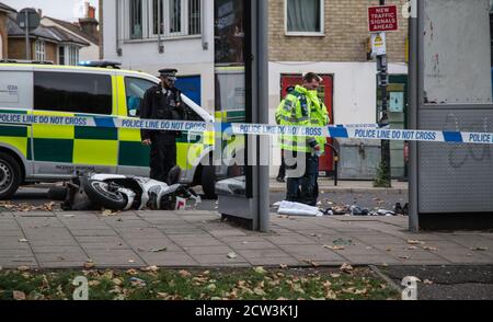
[[[417,3],[413,3],[416,5]],[[420,14],[421,8],[412,9],[417,10],[413,13]],[[410,97],[410,126],[411,129],[417,129],[417,108],[419,108],[419,19],[416,15],[411,14],[409,19],[409,97]],[[409,214],[409,229],[411,231],[417,232],[420,230],[420,218],[419,218],[419,199],[417,199],[417,142],[410,143],[410,175],[409,175],[409,202],[410,202],[410,214]]]

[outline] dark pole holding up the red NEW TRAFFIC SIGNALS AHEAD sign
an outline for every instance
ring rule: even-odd
[[[380,5],[385,5],[386,0],[380,0]],[[380,125],[387,126],[389,125],[389,116],[387,113],[388,102],[387,102],[387,78],[388,78],[388,68],[387,68],[387,55],[378,56],[380,72],[380,91],[381,91],[381,113],[382,117],[380,120]],[[390,141],[381,140],[381,171],[382,176],[385,179],[383,186],[391,187],[390,180]]]

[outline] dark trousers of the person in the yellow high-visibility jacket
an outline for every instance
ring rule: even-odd
[[[317,183],[319,173],[319,158],[317,156],[306,153],[305,160],[305,175],[301,177],[287,179],[286,200],[306,204],[309,206],[317,206],[319,195]]]

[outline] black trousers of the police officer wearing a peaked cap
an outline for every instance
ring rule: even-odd
[[[175,165],[176,142],[165,134],[154,135],[150,152],[150,177],[168,183],[168,175]]]

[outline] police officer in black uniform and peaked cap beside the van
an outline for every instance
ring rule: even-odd
[[[185,110],[181,92],[174,87],[176,69],[161,69],[161,83],[150,88],[144,95],[140,118],[184,120]],[[145,146],[150,146],[150,177],[168,183],[168,175],[176,165],[176,137],[181,133],[164,130],[141,130]]]

